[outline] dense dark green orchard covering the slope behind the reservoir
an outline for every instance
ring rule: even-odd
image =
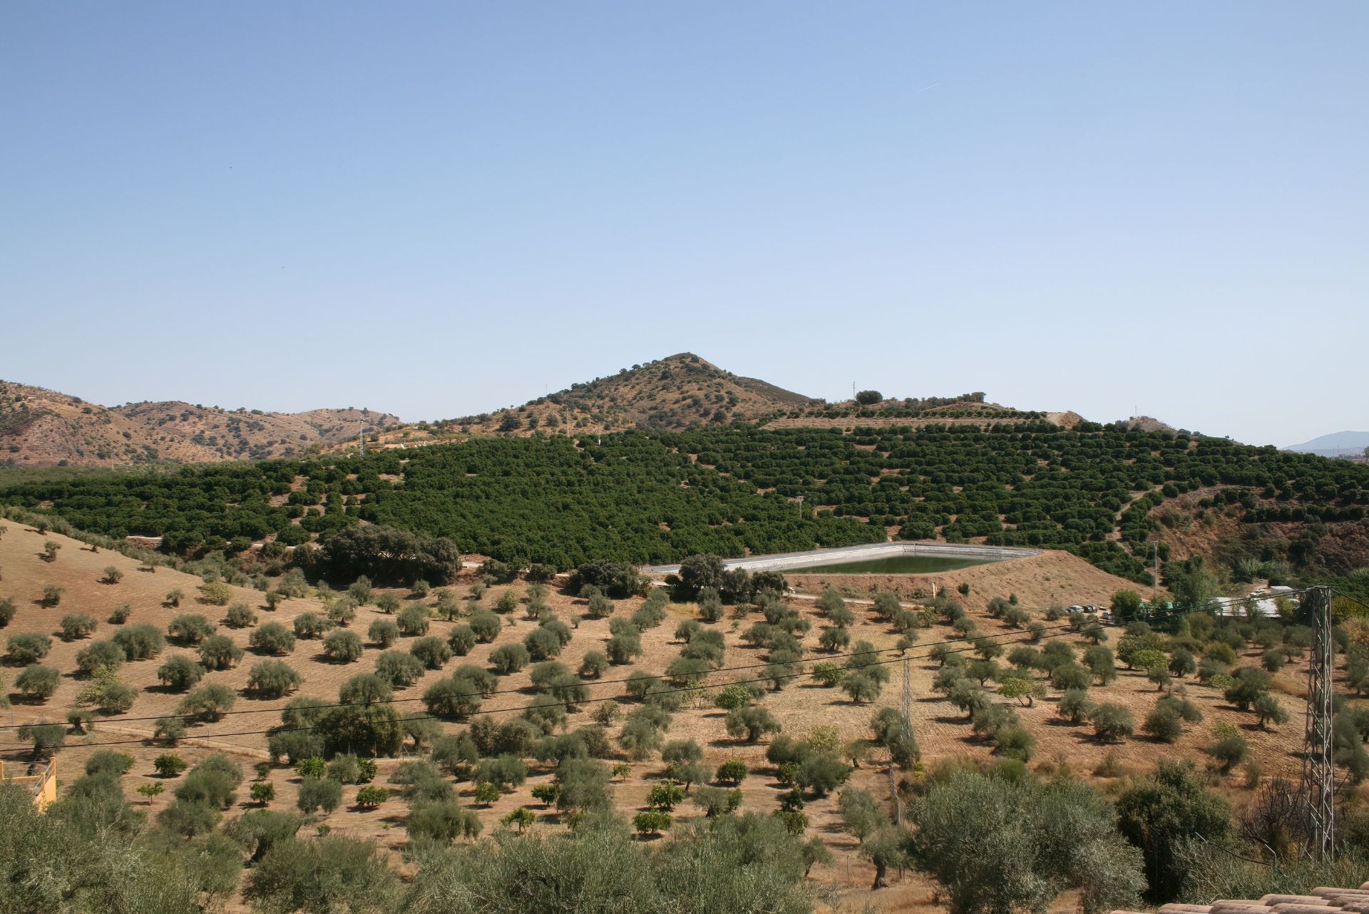
[[[1136,582],[1180,499],[1231,521],[1228,562],[1303,575],[1369,564],[1369,467],[1094,423],[471,439],[0,488],[4,504],[112,536],[163,535],[188,554],[357,521],[559,568],[895,536],[1064,549]]]

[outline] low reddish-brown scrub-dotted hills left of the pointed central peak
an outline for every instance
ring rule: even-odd
[[[179,401],[108,408],[0,380],[0,462],[19,467],[290,457],[397,423],[350,408],[271,413]]]

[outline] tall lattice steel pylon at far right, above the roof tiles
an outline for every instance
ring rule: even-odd
[[[1331,859],[1336,839],[1335,763],[1331,748],[1331,588],[1313,587],[1305,599],[1312,603],[1314,632],[1312,660],[1307,664],[1307,727],[1302,753],[1307,854],[1317,859]]]

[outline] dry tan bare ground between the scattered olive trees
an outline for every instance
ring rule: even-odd
[[[18,695],[12,695],[11,720],[4,721],[5,724],[22,724],[27,720],[41,717],[62,720],[66,709],[81,690],[82,683],[74,676],[75,654],[88,642],[62,642],[56,638],[57,620],[62,616],[74,612],[94,616],[100,620],[100,625],[93,638],[105,639],[116,628],[105,621],[110,612],[125,603],[130,605],[133,610],[129,620],[130,624],[151,623],[163,631],[167,623],[181,613],[203,613],[211,620],[218,620],[223,614],[222,608],[196,603],[196,586],[200,583],[196,577],[164,568],[157,569],[155,573],[138,571],[138,564],[123,556],[104,550],[96,554],[77,540],[52,534],[44,536],[15,521],[0,523],[8,528],[5,535],[0,538],[0,573],[3,573],[3,579],[0,579],[0,597],[11,597],[18,605],[18,614],[8,628],[0,632],[0,636],[29,631],[53,635],[52,653],[44,662],[63,672],[57,692],[44,703],[25,703],[19,701]],[[62,546],[56,561],[52,564],[40,560],[40,553],[47,539],[57,542]],[[104,568],[108,565],[114,565],[125,572],[120,583],[105,584],[100,582]],[[931,580],[936,580],[942,587],[954,587],[960,582],[969,582],[971,594],[965,598],[965,603],[971,613],[976,616],[980,631],[984,634],[1002,632],[1005,636],[1012,629],[990,618],[983,612],[984,605],[991,597],[1016,592],[1024,606],[1032,608],[1043,608],[1051,602],[1101,603],[1106,602],[1108,595],[1113,590],[1124,586],[1124,582],[1118,582],[1118,579],[1094,569],[1082,560],[1062,554],[1046,554],[1032,560],[1019,560],[969,568],[960,572],[916,577],[916,584],[909,584],[909,576],[902,576],[897,582],[890,579],[890,582],[882,580],[879,583],[901,583],[904,591],[910,594],[914,587],[924,587],[930,591]],[[852,582],[849,577],[838,579],[823,575],[794,579],[795,584],[808,591],[819,590],[824,580],[858,590],[865,590],[871,582],[869,576],[860,576],[858,582]],[[470,583],[468,580],[461,582],[453,586],[453,591],[464,595]],[[37,602],[47,584],[59,584],[66,588],[62,602],[56,608],[44,608]],[[523,584],[515,584],[513,587],[522,591]],[[175,588],[185,591],[188,595],[179,609],[163,605],[166,594]],[[502,587],[490,588],[485,595],[485,605],[493,606],[493,602],[502,590]],[[856,590],[852,590],[852,595],[857,595]],[[245,602],[256,608],[260,621],[281,621],[286,627],[289,627],[294,616],[307,610],[318,612],[320,609],[316,601],[294,599],[281,603],[274,613],[267,612],[261,606],[260,592],[242,588],[234,588],[233,602]],[[556,592],[554,590],[549,602],[561,618],[575,625],[574,639],[561,655],[561,661],[574,669],[578,666],[582,654],[602,647],[602,643],[608,638],[609,623],[608,620],[585,618],[583,601]],[[794,599],[791,602],[798,612],[812,617],[813,629],[805,636],[805,646],[810,651],[815,651],[809,655],[820,657],[820,653],[816,653],[820,620],[812,601]],[[639,603],[639,599],[622,601],[616,612],[617,614],[627,614]],[[858,618],[852,629],[853,639],[869,640],[876,647],[891,647],[894,644],[897,635],[886,625],[872,621],[864,605],[853,601],[852,609]],[[642,643],[646,653],[641,662],[637,664],[637,668],[661,672],[679,654],[682,646],[672,640],[675,625],[678,620],[695,614],[695,608],[691,605],[676,605],[669,608],[669,613],[671,616],[665,624],[643,634]],[[366,629],[378,616],[381,616],[378,609],[364,606],[359,610],[352,628],[364,636]],[[746,618],[737,618],[730,608],[728,616],[721,623],[717,623],[717,627],[726,634],[727,640],[726,666],[756,664],[760,661],[758,651],[745,646],[739,638],[741,632],[756,618],[758,616],[754,613]],[[434,620],[430,634],[445,638],[446,631],[452,625],[453,623]],[[419,695],[422,695],[428,684],[446,676],[455,662],[481,664],[494,647],[507,642],[522,640],[534,625],[535,623],[523,618],[520,612],[509,614],[505,617],[505,629],[494,644],[479,644],[468,657],[448,664],[446,672],[430,670],[420,683],[397,692],[396,698],[400,701],[398,709],[401,711],[422,710],[423,705],[418,701]],[[220,627],[219,632],[230,635],[237,643],[246,647],[251,629]],[[924,629],[921,632],[921,646],[910,653],[914,657],[923,655],[927,653],[927,644],[950,638],[954,638],[954,634],[943,625]],[[1014,632],[1012,636],[1005,638],[1005,643],[1024,638],[1021,632]],[[400,639],[396,647],[402,650],[411,640]],[[177,653],[193,654],[193,649],[168,644],[160,658],[130,662],[122,668],[120,675],[125,681],[141,690],[136,703],[126,714],[101,720],[89,736],[68,736],[67,746],[59,755],[59,772],[64,780],[70,781],[79,773],[94,744],[116,742],[119,744],[115,748],[129,753],[136,759],[133,770],[125,779],[126,792],[134,799],[136,805],[142,805],[141,798],[134,791],[138,784],[153,777],[152,759],[166,750],[144,742],[152,731],[151,720],[140,721],[130,718],[152,718],[174,710],[181,695],[163,691],[159,687],[156,669],[166,657]],[[296,643],[293,654],[283,660],[293,665],[304,677],[304,686],[296,695],[312,695],[335,701],[338,686],[349,676],[371,672],[378,654],[379,649],[367,643],[367,650],[359,661],[353,664],[333,664],[322,657],[320,642],[301,639]],[[1243,660],[1246,662],[1255,662],[1253,660],[1257,654],[1250,651]],[[259,701],[241,694],[248,669],[257,660],[260,658],[249,651],[235,669],[211,672],[205,677],[205,683],[222,683],[233,687],[240,692],[240,698],[233,709],[234,713],[222,721],[190,728],[189,732],[193,735],[193,739],[185,740],[177,750],[188,761],[193,762],[211,751],[227,751],[242,762],[244,769],[251,777],[251,766],[267,758],[264,750],[267,737],[260,731],[266,731],[279,722],[278,711],[286,699]],[[634,666],[611,668],[605,679],[622,679],[631,669]],[[784,731],[789,733],[805,735],[816,725],[826,725],[838,728],[845,740],[868,737],[868,722],[875,709],[880,705],[897,703],[899,699],[901,666],[894,664],[888,669],[893,672],[893,680],[886,686],[883,695],[875,705],[853,705],[846,699],[843,692],[820,688],[804,679],[786,686],[779,692],[771,694],[764,705],[783,722]],[[5,677],[7,686],[12,687],[18,672],[16,668],[11,666],[3,669],[0,675]],[[715,675],[715,681],[721,683],[749,675],[752,673],[745,670],[723,672]],[[939,701],[931,692],[930,687],[934,675],[935,666],[930,661],[920,657],[912,661],[912,692],[914,696],[912,721],[921,744],[924,762],[934,763],[939,758],[949,757],[988,758],[990,747],[973,737],[964,717],[951,705]],[[1305,668],[1301,664],[1292,664],[1276,677],[1277,688],[1285,692],[1283,698],[1291,714],[1288,724],[1272,732],[1257,729],[1251,714],[1244,714],[1227,706],[1216,691],[1199,687],[1197,683],[1190,683],[1190,698],[1202,707],[1205,720],[1202,724],[1190,728],[1190,732],[1179,743],[1170,746],[1150,742],[1139,736],[1116,747],[1101,746],[1091,739],[1087,728],[1066,725],[1054,716],[1055,694],[1051,694],[1051,698],[1047,701],[1036,702],[1034,707],[1019,709],[1019,713],[1024,727],[1038,739],[1038,751],[1032,763],[1043,768],[1068,763],[1076,773],[1091,774],[1108,753],[1116,753],[1120,762],[1132,770],[1146,770],[1160,758],[1191,757],[1201,759],[1203,758],[1201,746],[1207,740],[1212,724],[1231,721],[1240,727],[1242,732],[1250,740],[1253,754],[1264,768],[1265,774],[1296,776],[1299,765],[1296,751],[1302,736],[1302,714],[1296,696],[1302,691],[1303,675]],[[527,670],[500,680],[501,690],[511,687],[528,687]],[[622,686],[593,686],[591,692],[596,698],[619,696]],[[1138,722],[1151,709],[1158,696],[1154,686],[1144,679],[1143,673],[1125,670],[1120,672],[1118,680],[1114,684],[1106,688],[1095,687],[1092,694],[1097,701],[1113,701],[1127,705],[1134,710]],[[483,709],[507,709],[509,713],[517,713],[528,703],[531,695],[530,688],[526,692],[496,695],[485,703]],[[572,714],[571,725],[589,722],[589,711],[593,707],[593,703],[586,705],[579,713]],[[445,724],[445,729],[448,731],[457,731],[461,727],[463,724],[456,722]],[[30,758],[29,750],[14,737],[12,729],[5,732],[7,736],[0,736],[0,757],[5,761],[27,761]],[[730,740],[723,729],[721,711],[711,706],[686,707],[675,716],[675,722],[667,737],[695,739],[705,747],[705,763],[711,768],[730,758],[745,759],[752,769],[752,776],[745,781],[742,788],[745,795],[742,809],[747,811],[778,809],[778,799],[784,788],[775,783],[773,769],[765,762],[765,744],[745,746]],[[858,787],[872,791],[876,796],[887,796],[887,776],[883,768],[878,766],[880,758],[880,753],[872,753],[871,762],[857,769],[852,781]],[[397,765],[397,759],[381,759],[381,774],[376,783],[383,784],[394,765]],[[646,792],[661,769],[663,765],[660,761],[632,763],[631,773],[615,783],[617,805],[628,814],[642,807]],[[485,824],[485,833],[490,833],[498,826],[497,822],[501,815],[523,805],[538,813],[538,824],[534,828],[559,828],[554,810],[543,810],[530,796],[530,789],[534,785],[546,783],[550,777],[549,769],[534,763],[527,784],[513,794],[502,796],[487,809],[475,807]],[[272,772],[271,780],[277,787],[275,806],[293,809],[294,792],[298,783],[294,772],[286,766],[278,766]],[[1228,787],[1232,791],[1239,789],[1238,780],[1236,774],[1227,779]],[[167,787],[170,788],[172,784]],[[474,803],[474,799],[470,796],[472,785],[463,784],[460,788],[465,800]],[[404,802],[396,796],[378,810],[360,811],[350,806],[355,789],[355,787],[345,787],[344,805],[323,821],[334,832],[374,839],[389,848],[401,847],[405,840],[404,815],[407,807]],[[159,810],[170,799],[170,792],[167,789],[166,794],[153,800],[151,807],[148,807],[149,811],[155,813]],[[245,784],[240,789],[240,795],[246,796]],[[244,802],[242,809],[248,807],[249,805]],[[805,813],[810,818],[810,832],[821,836],[835,857],[834,863],[815,867],[812,878],[826,896],[832,900],[836,898],[841,899],[841,910],[860,910],[867,899],[875,900],[884,911],[923,911],[939,907],[935,899],[935,887],[914,873],[895,876],[891,888],[882,889],[873,895],[868,892],[873,869],[854,851],[854,840],[841,831],[835,795],[810,802]],[[689,802],[676,807],[676,821],[686,821],[700,814]],[[661,840],[669,839],[665,837]],[[1066,902],[1068,899],[1061,903],[1065,904]]]

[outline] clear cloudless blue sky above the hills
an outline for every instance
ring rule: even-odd
[[[0,5],[0,378],[1369,428],[1369,4]]]

